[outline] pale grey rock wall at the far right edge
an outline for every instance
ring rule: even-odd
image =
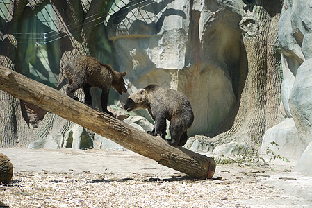
[[[283,121],[274,126],[265,133],[263,139],[263,146],[269,144],[270,141],[280,141],[281,144],[285,144],[277,152],[284,157],[299,159],[300,155],[305,153],[299,159],[295,170],[309,170],[310,173],[312,172],[311,29],[312,2],[284,1],[279,25],[279,44],[284,76],[281,100],[285,116],[290,118],[290,121]],[[310,153],[310,156],[307,153]]]

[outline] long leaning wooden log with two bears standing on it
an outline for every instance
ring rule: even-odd
[[[123,121],[3,66],[0,66],[0,90],[58,114],[115,141],[124,148],[191,177],[211,178],[215,173],[215,161],[212,158],[185,148],[170,146],[161,137],[153,137],[137,130]]]

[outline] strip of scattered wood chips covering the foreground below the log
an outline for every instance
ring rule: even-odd
[[[249,207],[246,200],[281,199],[277,189],[260,191],[248,182],[118,179],[85,171],[19,172],[0,188],[0,202],[9,207]]]

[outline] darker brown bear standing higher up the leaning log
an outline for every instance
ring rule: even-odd
[[[83,87],[85,93],[85,103],[92,105],[91,87],[99,87],[101,93],[101,107],[104,112],[113,116],[107,110],[108,96],[110,87],[113,87],[119,94],[126,92],[124,86],[124,76],[126,71],[119,73],[114,71],[108,64],[101,64],[99,60],[90,56],[79,56],[70,60],[65,68],[65,74],[68,81],[66,94],[78,101],[74,92]]]

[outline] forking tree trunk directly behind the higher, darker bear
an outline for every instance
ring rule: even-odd
[[[72,58],[78,55],[90,55],[92,49],[92,37],[97,31],[99,21],[106,17],[105,10],[110,1],[93,0],[90,8],[83,8],[81,1],[52,1],[54,12],[56,13],[56,28],[62,34],[56,42],[60,45],[62,57],[60,58],[60,74],[58,76],[58,89],[65,92],[66,79],[64,69]],[[99,14],[99,15],[98,15]],[[90,18],[92,17],[92,18]],[[100,18],[101,17],[101,18]],[[47,44],[54,44],[49,42]],[[80,101],[83,101],[83,90],[75,92]],[[61,118],[60,116],[48,112],[44,119],[35,129],[38,137],[47,137],[49,134],[64,135],[74,123]]]

